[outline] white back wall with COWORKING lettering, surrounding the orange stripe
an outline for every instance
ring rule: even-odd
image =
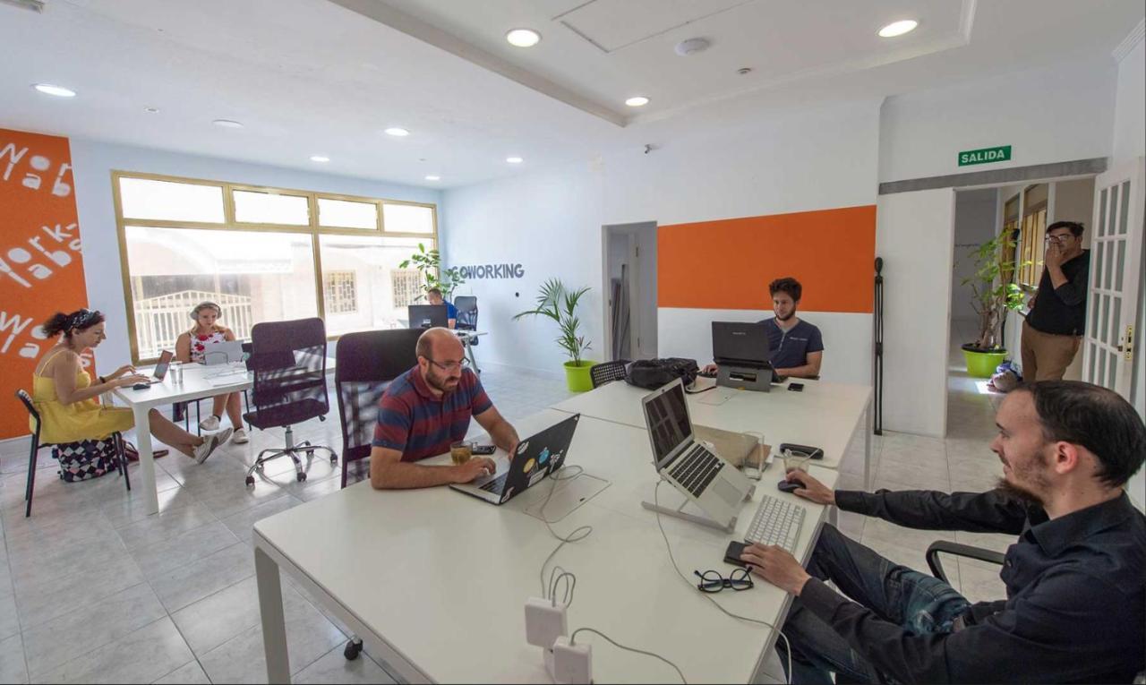
[[[649,155],[620,153],[592,165],[447,190],[447,262],[521,261],[526,269],[521,281],[468,284],[480,298],[480,328],[490,331],[481,341],[480,361],[560,369],[564,357],[552,344],[551,323],[509,321],[532,304],[537,285],[551,275],[592,286],[582,321],[595,347],[604,344],[603,225],[666,226],[873,204],[878,118],[878,103],[870,101],[787,113],[665,141]],[[771,277],[761,274],[762,289]],[[716,312],[660,308],[658,353],[707,359]],[[813,316],[808,314],[819,325]],[[832,328],[837,330],[834,323]],[[829,338],[825,330],[825,378],[870,383],[871,316],[850,317],[842,331]],[[595,359],[603,359],[599,352]]]

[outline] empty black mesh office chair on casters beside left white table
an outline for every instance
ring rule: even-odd
[[[335,450],[304,440],[295,444],[295,424],[317,417],[327,420],[330,400],[327,396],[327,329],[321,318],[257,323],[251,329],[251,356],[248,368],[254,372],[251,397],[254,411],[243,415],[246,423],[266,431],[286,428],[286,444],[259,452],[246,471],[246,485],[254,485],[254,472],[262,472],[267,462],[286,455],[295,462],[299,481],[306,471],[299,458],[305,451],[313,458],[315,450],[330,452],[330,463],[338,463]]]

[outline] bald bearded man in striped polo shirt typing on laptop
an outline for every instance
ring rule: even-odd
[[[416,462],[449,451],[465,438],[470,417],[494,444],[513,454],[517,431],[499,414],[465,368],[465,351],[448,329],[422,333],[418,365],[390,384],[378,402],[378,425],[370,450],[370,485],[376,489],[429,488],[466,483],[495,470],[493,459],[473,457],[461,466],[424,466]]]

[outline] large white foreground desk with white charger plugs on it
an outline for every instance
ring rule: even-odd
[[[545,410],[517,426],[529,435],[566,414]],[[594,526],[550,562],[576,574],[570,629],[596,628],[621,644],[650,649],[681,667],[690,682],[747,683],[761,671],[776,639],[766,627],[725,616],[669,564],[656,514],[641,507],[657,482],[643,430],[582,417],[567,464],[611,481],[609,488],[554,528],[567,535]],[[448,456],[441,457],[447,462]],[[829,487],[835,472],[813,467]],[[808,510],[796,543],[807,561],[826,507],[776,490],[766,472],[761,493],[790,497]],[[557,546],[523,502],[549,481],[504,506],[448,488],[375,491],[369,482],[264,519],[254,525],[262,633],[270,683],[289,682],[280,569],[325,604],[366,648],[414,683],[549,683],[542,653],[525,641],[524,605],[541,597],[541,564]],[[670,486],[664,504],[677,503]],[[756,495],[759,499],[759,494]],[[735,535],[670,517],[661,520],[685,575],[733,567],[724,548],[744,532],[756,503],[745,503]],[[548,570],[547,568],[547,580]],[[735,613],[779,624],[790,596],[758,578],[753,590],[725,591],[716,601]],[[622,652],[595,636],[597,682],[676,682],[666,664]]]

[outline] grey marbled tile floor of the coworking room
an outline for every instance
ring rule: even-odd
[[[563,380],[492,365],[482,381],[510,420],[568,396]],[[964,392],[966,385],[952,378],[947,440],[874,439],[878,487],[991,485],[999,465],[987,449],[990,399]],[[337,415],[329,418],[297,427],[297,440],[337,449]],[[117,477],[60,481],[45,450],[31,519],[23,517],[26,442],[0,443],[0,683],[265,682],[251,525],[338,489],[338,471],[322,460],[304,483],[280,460],[267,467],[268,480],[245,488],[252,455],[282,440],[282,431],[256,431],[249,444],[228,444],[202,466],[178,454],[159,459],[157,517],[144,515],[140,493],[126,493]],[[862,436],[854,442],[841,487],[859,487]],[[840,525],[920,569],[926,545],[942,537],[848,514]],[[955,538],[1007,544],[1003,536]],[[989,567],[959,562],[951,575],[970,597],[1002,597]],[[346,631],[289,578],[283,595],[296,683],[393,682],[368,655],[345,661]],[[768,670],[774,679],[782,675],[775,660]]]

